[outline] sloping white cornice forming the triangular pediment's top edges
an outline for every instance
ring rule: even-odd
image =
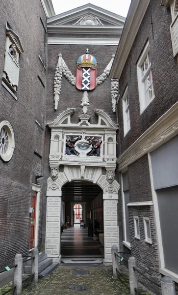
[[[102,18],[103,20],[113,23],[114,25],[123,25],[126,20],[125,17],[122,17],[101,7],[88,3],[86,5],[53,16],[49,20],[47,20],[47,23],[62,24],[64,22],[71,22],[73,20],[76,20],[77,18],[79,19],[87,13],[93,13],[99,19]]]

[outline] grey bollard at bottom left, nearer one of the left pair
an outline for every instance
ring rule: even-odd
[[[22,271],[23,271],[23,258],[21,254],[16,254],[14,259],[14,265],[18,265],[14,269],[14,281],[13,287],[16,286],[13,295],[22,294]]]

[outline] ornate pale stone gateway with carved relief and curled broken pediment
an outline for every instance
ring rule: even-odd
[[[119,246],[117,200],[120,186],[115,180],[118,126],[101,110],[95,110],[97,124],[90,124],[86,114],[79,116],[78,124],[73,124],[74,111],[69,109],[48,124],[51,128],[51,177],[47,189],[46,253],[54,261],[61,261],[61,189],[67,182],[83,179],[102,188],[104,263],[111,263],[111,246]],[[59,172],[60,165],[63,172]]]

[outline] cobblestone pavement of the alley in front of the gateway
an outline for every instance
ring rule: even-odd
[[[75,274],[76,270],[88,270],[88,274]],[[77,290],[71,290],[73,285],[84,285],[85,290],[79,291],[79,295],[130,295],[128,271],[122,267],[121,273],[122,275],[114,279],[110,266],[58,266],[46,280],[39,280],[38,287],[24,285],[22,295],[78,294]],[[0,295],[11,287],[9,284],[1,289]],[[141,289],[140,294],[150,295]]]

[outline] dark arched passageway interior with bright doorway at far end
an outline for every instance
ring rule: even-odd
[[[61,235],[61,262],[102,263],[102,189],[90,181],[71,181],[62,187],[62,202],[68,227]]]

